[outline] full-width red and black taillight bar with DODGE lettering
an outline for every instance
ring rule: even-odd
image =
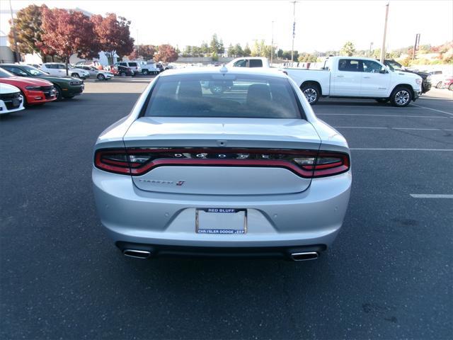
[[[285,168],[304,178],[342,174],[350,169],[343,152],[299,149],[147,148],[98,149],[94,165],[115,174],[141,176],[159,166],[257,166]]]

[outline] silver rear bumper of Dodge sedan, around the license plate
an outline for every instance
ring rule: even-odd
[[[142,191],[134,186],[130,176],[93,169],[96,205],[109,236],[117,244],[126,242],[153,247],[288,249],[330,246],[343,224],[350,185],[349,171],[314,179],[302,193],[184,195]],[[197,234],[195,208],[245,208],[248,211],[247,232]]]

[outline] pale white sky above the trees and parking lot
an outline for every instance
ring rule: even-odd
[[[294,50],[339,50],[351,40],[357,50],[382,45],[385,5],[389,7],[387,47],[413,45],[420,33],[420,44],[440,45],[453,40],[453,0],[391,1],[305,1],[296,4]],[[132,21],[131,34],[141,44],[170,43],[182,50],[185,45],[210,41],[213,33],[230,42],[264,39],[270,45],[291,49],[292,4],[280,1],[133,1],[133,0],[12,0],[13,9],[28,4],[49,7],[83,8],[96,14],[117,13]],[[8,32],[5,11],[8,0],[0,0],[0,29]],[[272,22],[274,29],[272,30]]]

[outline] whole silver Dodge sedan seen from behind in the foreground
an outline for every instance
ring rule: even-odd
[[[294,261],[332,244],[352,179],[345,138],[294,81],[226,67],[156,77],[98,137],[92,176],[101,222],[126,256]]]

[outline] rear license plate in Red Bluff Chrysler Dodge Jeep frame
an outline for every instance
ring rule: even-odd
[[[195,210],[197,234],[245,234],[247,210],[232,208],[202,208]]]

